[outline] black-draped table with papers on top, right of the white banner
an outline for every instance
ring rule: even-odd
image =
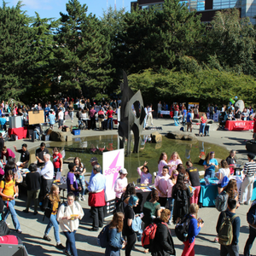
[[[133,210],[135,213],[140,213],[143,212],[144,203],[151,198],[150,194],[152,189],[154,189],[154,184],[138,184],[135,189],[139,203]]]

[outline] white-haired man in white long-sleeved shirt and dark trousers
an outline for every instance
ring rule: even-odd
[[[40,199],[42,199],[42,197],[44,198],[44,196],[49,193],[51,185],[53,183],[54,166],[49,159],[50,159],[50,155],[44,154],[45,165],[40,172],[40,175],[42,176]]]

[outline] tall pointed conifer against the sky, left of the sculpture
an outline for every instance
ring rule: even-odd
[[[82,88],[87,95],[95,96],[112,80],[109,38],[102,34],[100,20],[86,15],[85,4],[70,0],[66,6],[67,15],[61,13],[56,34],[55,87],[61,91]]]

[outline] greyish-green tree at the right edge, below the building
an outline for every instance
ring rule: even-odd
[[[255,76],[255,30],[248,18],[240,18],[238,9],[217,12],[207,32],[207,40],[209,67]]]

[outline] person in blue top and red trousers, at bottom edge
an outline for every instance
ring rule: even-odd
[[[198,222],[197,212],[199,207],[197,204],[193,203],[189,207],[189,230],[188,230],[188,240],[183,241],[184,248],[182,256],[195,256],[195,236],[197,236],[204,226],[204,223]]]

